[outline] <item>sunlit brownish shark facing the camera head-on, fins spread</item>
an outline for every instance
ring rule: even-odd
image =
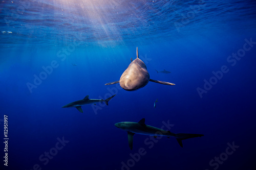
[[[123,72],[120,80],[111,83],[106,83],[105,85],[120,83],[120,86],[124,90],[134,91],[144,87],[145,85],[147,85],[149,81],[165,85],[175,85],[173,83],[150,79],[150,74],[148,74],[146,65],[144,64],[143,61],[139,59],[137,47],[137,58],[134,61],[132,60],[131,64]]]

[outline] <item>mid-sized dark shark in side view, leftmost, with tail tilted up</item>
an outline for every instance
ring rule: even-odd
[[[116,95],[116,94],[115,94],[115,95]],[[62,106],[62,107],[63,107],[63,108],[66,108],[66,107],[67,107],[67,108],[68,108],[68,107],[75,107],[75,108],[77,108],[77,110],[78,110],[79,112],[83,113],[81,106],[83,106],[83,105],[92,105],[92,104],[96,105],[96,103],[98,103],[98,102],[100,102],[100,103],[105,102],[106,105],[109,105],[108,102],[109,102],[112,98],[114,98],[115,95],[112,95],[110,98],[108,98],[108,99],[106,99],[106,100],[103,100],[103,99],[89,99],[89,95],[87,95],[87,96],[86,96],[84,99],[82,99],[82,100],[69,103],[69,104],[67,104],[67,105],[65,105],[65,106]]]

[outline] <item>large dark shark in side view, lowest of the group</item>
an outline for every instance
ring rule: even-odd
[[[188,133],[172,133],[170,131],[165,131],[163,129],[159,129],[153,126],[149,126],[145,124],[145,118],[142,118],[138,123],[137,122],[119,122],[116,123],[115,126],[119,129],[127,131],[128,133],[128,141],[129,147],[133,149],[133,135],[141,134],[141,135],[150,135],[150,136],[173,136],[177,139],[178,143],[181,147],[183,147],[182,140],[193,138],[193,137],[201,137],[204,135],[201,134],[188,134]]]

